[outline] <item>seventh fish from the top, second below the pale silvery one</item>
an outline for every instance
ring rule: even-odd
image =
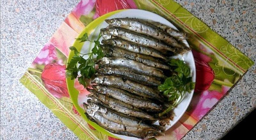
[[[117,76],[98,76],[94,78],[91,82],[92,84],[99,84],[104,86],[112,86],[115,88],[124,89],[131,93],[140,95],[142,97],[148,97],[150,99],[157,99],[159,101],[164,101],[163,97],[160,95],[158,90],[152,89],[148,86],[132,82],[130,80],[122,80],[122,78]]]

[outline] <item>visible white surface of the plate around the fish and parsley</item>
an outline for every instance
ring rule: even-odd
[[[110,17],[108,17],[107,19],[112,19],[112,18],[139,18],[139,19],[149,19],[152,21],[157,21],[160,22],[162,24],[168,25],[174,29],[177,29],[172,23],[170,23],[168,20],[166,20],[165,18],[154,14],[152,12],[148,12],[148,11],[144,11],[144,10],[137,10],[137,9],[128,9],[128,10],[124,10],[121,11],[119,13],[116,13]],[[106,23],[105,21],[102,24],[99,24],[96,29],[94,31],[92,31],[92,33],[90,33],[89,38],[92,39],[96,39],[96,35],[98,35],[100,33],[100,29],[101,28],[105,28],[108,26],[108,23]],[[100,39],[101,41],[102,39]],[[184,43],[186,43],[187,47],[189,47],[188,42],[186,40],[183,41]],[[88,47],[90,46],[90,47]],[[88,41],[86,43],[84,43],[81,52],[82,53],[86,53],[89,50],[91,50],[92,44],[88,43]],[[196,66],[195,66],[195,62],[194,62],[194,57],[192,54],[192,51],[186,52],[183,55],[178,55],[178,56],[174,56],[174,58],[179,58],[180,60],[184,60],[186,62],[186,64],[189,65],[190,67],[190,75],[192,76],[192,81],[196,82]],[[171,128],[181,117],[182,115],[185,113],[186,109],[188,108],[188,105],[190,104],[190,101],[192,99],[194,90],[192,90],[190,93],[188,93],[186,95],[186,97],[184,97],[184,99],[182,100],[182,102],[174,109],[174,113],[175,113],[175,117],[173,119],[173,121],[170,121],[170,125],[165,126],[166,130],[168,130],[169,128]],[[118,134],[114,134],[115,136],[118,136],[119,138],[122,138],[124,140],[139,140],[138,138],[135,137],[130,137],[130,136],[124,136],[124,135],[118,135]]]

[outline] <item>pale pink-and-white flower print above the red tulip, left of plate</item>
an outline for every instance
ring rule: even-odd
[[[56,55],[56,48],[54,45],[47,43],[44,45],[41,52],[38,54],[36,59],[33,61],[33,64],[49,64],[53,60],[58,60]]]

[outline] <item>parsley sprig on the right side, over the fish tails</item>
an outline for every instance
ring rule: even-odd
[[[164,84],[158,86],[158,89],[168,97],[172,105],[160,113],[159,116],[174,109],[185,97],[186,92],[190,92],[195,86],[195,83],[192,82],[192,77],[190,77],[190,68],[184,61],[171,59],[168,64],[174,67],[174,73],[171,77],[166,78]]]

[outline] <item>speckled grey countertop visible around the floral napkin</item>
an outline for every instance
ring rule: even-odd
[[[176,0],[256,62],[255,0]],[[78,139],[19,79],[78,0],[1,0],[1,140]],[[219,139],[256,107],[256,65],[186,134]]]

